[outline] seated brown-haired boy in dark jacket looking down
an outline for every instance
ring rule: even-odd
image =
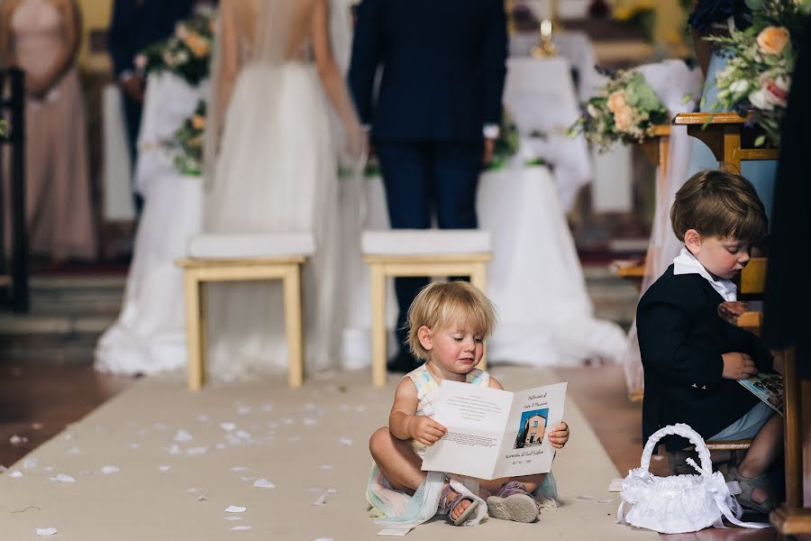
[[[743,461],[729,468],[741,483],[741,504],[761,512],[777,505],[767,469],[778,457],[782,419],[738,380],[771,371],[769,349],[755,335],[718,316],[734,301],[732,279],[766,234],[766,213],[752,184],[705,170],[676,193],[670,209],[681,254],[642,296],[636,325],[645,372],[643,441],[662,426],[686,423],[705,439],[752,439]],[[668,436],[669,451],[688,442]]]

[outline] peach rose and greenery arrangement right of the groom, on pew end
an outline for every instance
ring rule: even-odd
[[[586,104],[583,115],[569,129],[580,133],[600,151],[617,141],[640,142],[652,135],[658,124],[670,119],[667,108],[642,74],[634,69],[606,72],[608,83]]]

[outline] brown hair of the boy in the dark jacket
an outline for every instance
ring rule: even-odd
[[[757,243],[768,219],[752,183],[724,170],[703,170],[676,192],[670,207],[673,233],[684,242],[688,229],[698,234]]]

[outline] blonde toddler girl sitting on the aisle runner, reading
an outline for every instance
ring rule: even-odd
[[[430,284],[409,308],[408,345],[426,362],[400,381],[388,426],[369,439],[375,466],[366,493],[372,514],[385,517],[379,524],[416,525],[439,513],[456,526],[472,526],[486,512],[493,518],[533,522],[538,500],[555,505],[551,473],[475,480],[420,469],[426,446],[446,432],[433,420],[442,380],[504,389],[488,372],[476,368],[495,324],[488,298],[464,281]],[[569,440],[569,426],[554,426],[549,439],[560,449]]]

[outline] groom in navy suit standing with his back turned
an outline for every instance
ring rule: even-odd
[[[350,86],[370,126],[395,229],[473,229],[482,162],[492,158],[506,76],[504,0],[362,0]],[[382,68],[375,93],[376,74]],[[376,96],[373,96],[376,94]],[[401,351],[405,315],[427,278],[395,281]]]

